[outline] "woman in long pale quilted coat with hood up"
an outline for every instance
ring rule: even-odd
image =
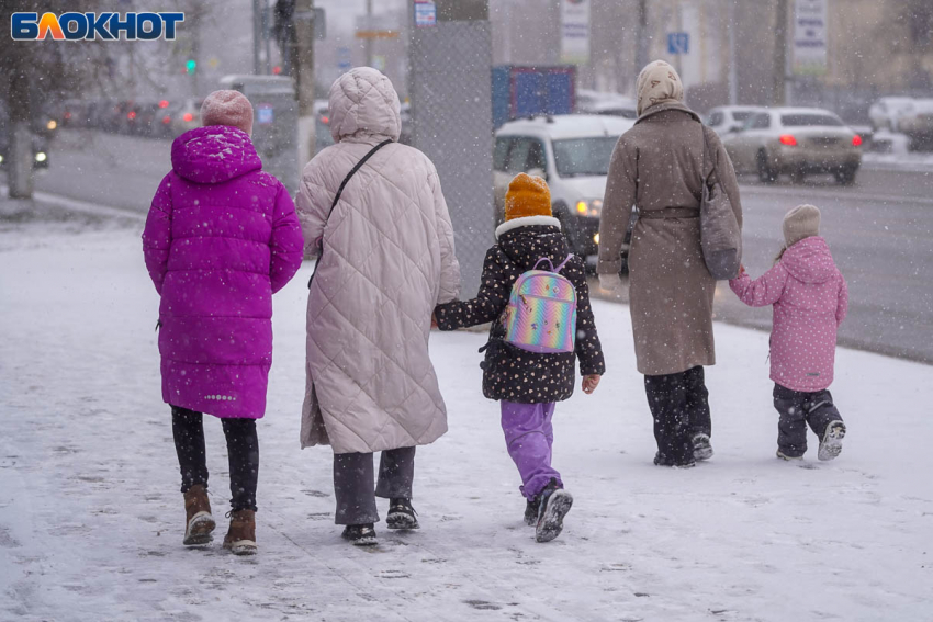
[[[460,267],[431,161],[396,143],[398,95],[368,67],[330,88],[336,145],[302,174],[297,212],[307,251],[323,253],[307,301],[307,388],[302,446],[334,450],[336,522],[375,544],[375,496],[391,529],[418,527],[412,508],[415,446],[447,431],[428,355],[431,312],[457,297]],[[349,179],[373,147],[386,143]],[[373,489],[372,453],[382,452]]]

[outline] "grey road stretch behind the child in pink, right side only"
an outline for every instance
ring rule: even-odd
[[[753,278],[771,268],[780,250],[784,214],[812,203],[822,212],[821,233],[848,282],[850,312],[840,343],[933,363],[933,170],[863,170],[853,188],[830,178],[806,185],[742,181],[744,264]],[[716,316],[771,328],[771,309],[746,307],[726,283],[717,290]]]

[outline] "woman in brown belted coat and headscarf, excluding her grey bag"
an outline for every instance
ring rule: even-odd
[[[632,205],[638,220],[629,252],[629,298],[638,371],[654,417],[654,463],[693,466],[712,456],[704,366],[716,363],[712,297],[716,281],[700,248],[704,134],[684,102],[677,72],[663,60],[638,78],[634,127],[612,152],[599,225],[597,272],[604,289],[620,284],[621,247]],[[711,133],[710,133],[711,134]],[[732,162],[715,134],[709,161],[732,202],[742,207]]]

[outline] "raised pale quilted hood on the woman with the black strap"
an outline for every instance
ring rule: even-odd
[[[398,140],[401,108],[389,78],[371,67],[357,67],[330,87],[330,135],[335,143],[349,137]]]

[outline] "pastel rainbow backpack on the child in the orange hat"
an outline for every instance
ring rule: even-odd
[[[576,290],[559,274],[572,257],[569,255],[557,268],[542,257],[515,281],[502,317],[506,342],[529,352],[573,352]],[[550,271],[538,270],[544,261]]]

